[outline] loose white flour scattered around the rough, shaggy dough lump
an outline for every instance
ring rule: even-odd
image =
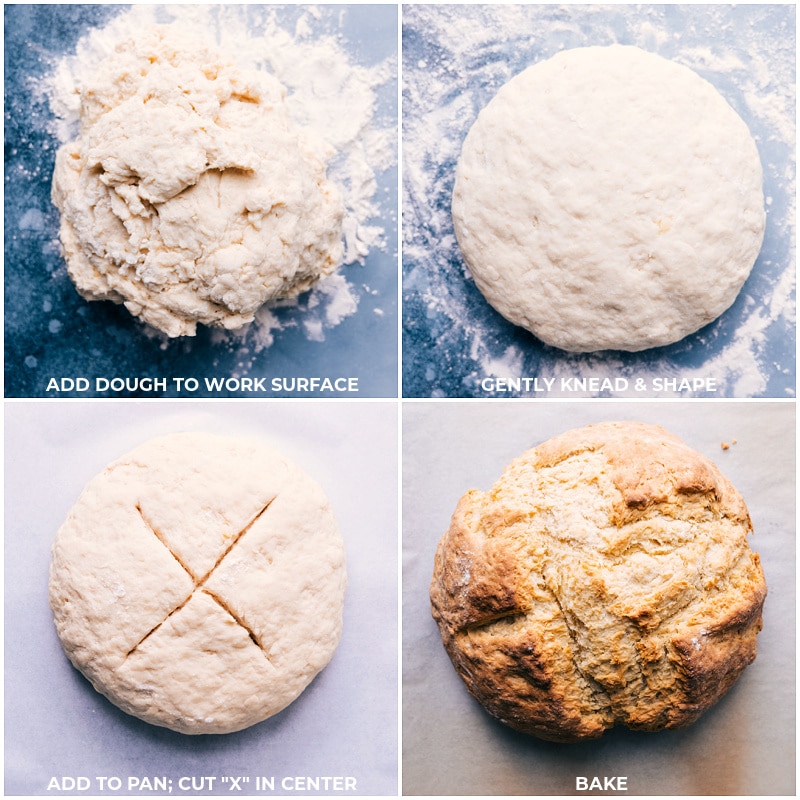
[[[290,19],[294,15],[296,19]],[[287,105],[296,125],[309,139],[317,138],[335,157],[328,177],[345,205],[343,246],[345,265],[363,265],[373,249],[385,249],[385,222],[393,213],[377,192],[377,178],[396,162],[396,128],[390,115],[379,111],[378,94],[396,73],[393,58],[372,66],[354,63],[347,46],[342,15],[316,7],[287,11],[280,7],[133,6],[102,28],[91,30],[75,52],[54,64],[41,87],[55,114],[52,132],[69,141],[77,130],[76,87],[125,39],[153,24],[174,23],[189,37],[205,39],[225,57],[247,69],[274,75],[288,89]],[[346,113],[343,113],[346,109]],[[358,268],[358,267],[355,267]],[[256,315],[239,333],[224,333],[231,347],[246,346],[251,355],[268,347],[277,327],[299,324],[309,305],[330,306],[320,314],[321,327],[310,326],[314,340],[355,313],[359,290],[351,281],[322,281],[281,312],[286,304]],[[277,310],[277,314],[274,313]],[[266,323],[266,324],[265,324]],[[215,340],[219,337],[214,336]]]

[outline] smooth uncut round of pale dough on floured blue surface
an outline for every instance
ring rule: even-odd
[[[619,45],[503,86],[464,142],[452,212],[489,303],[575,352],[667,345],[716,319],[765,224],[744,122],[691,70]]]

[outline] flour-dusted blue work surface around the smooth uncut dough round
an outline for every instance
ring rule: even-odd
[[[642,353],[570,354],[486,302],[458,249],[450,198],[464,137],[505,82],[562,49],[613,43],[694,69],[745,120],[764,167],[767,230],[715,322]],[[405,397],[794,396],[794,5],[411,4],[402,49]],[[484,378],[531,380],[498,388]],[[603,385],[615,378],[626,381]]]

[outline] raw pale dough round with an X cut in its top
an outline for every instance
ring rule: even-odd
[[[153,439],[84,489],[53,546],[72,663],[123,711],[182,733],[276,714],[328,663],[345,591],[321,488],[278,453]]]

